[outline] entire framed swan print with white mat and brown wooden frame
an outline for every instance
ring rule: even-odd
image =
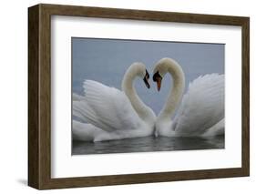
[[[28,8],[28,185],[250,174],[249,17]]]

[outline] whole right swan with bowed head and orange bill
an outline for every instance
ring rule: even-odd
[[[173,86],[156,118],[155,136],[207,137],[224,134],[224,75],[200,76],[189,83],[183,96],[185,76],[178,62],[162,58],[153,70],[153,81],[160,90],[161,80],[169,73]],[[182,97],[183,96],[183,97]],[[182,98],[182,100],[181,100]],[[176,116],[174,115],[179,106]]]

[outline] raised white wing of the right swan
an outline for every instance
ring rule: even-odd
[[[189,84],[173,119],[178,136],[204,133],[224,117],[224,75],[210,74]]]

